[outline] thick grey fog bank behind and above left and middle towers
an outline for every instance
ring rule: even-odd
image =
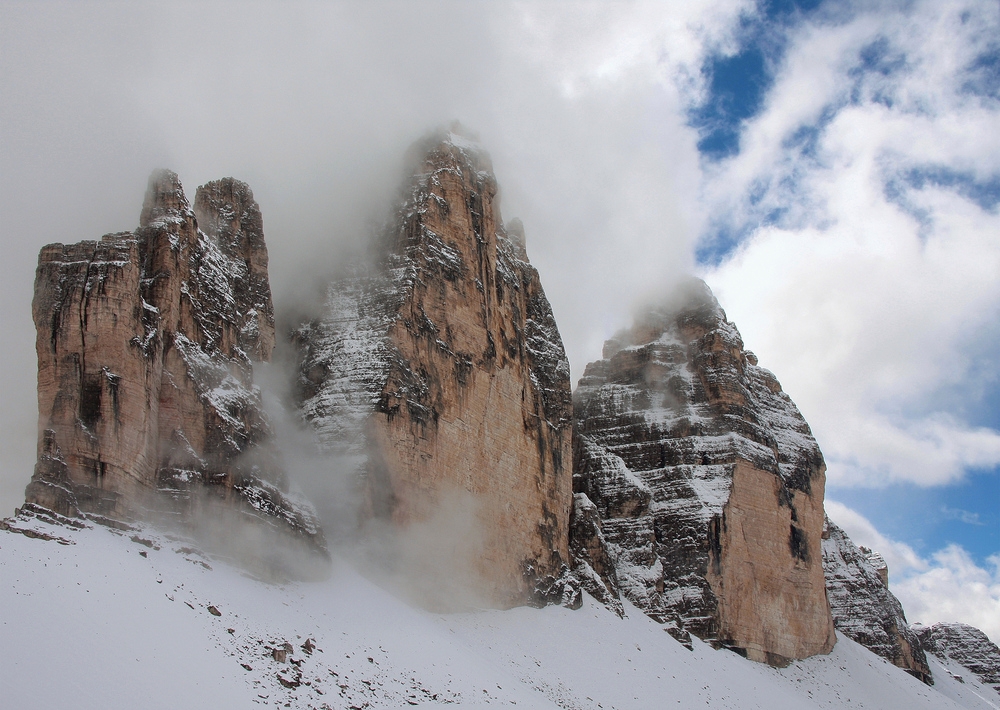
[[[575,380],[691,266],[696,135],[674,78],[732,16],[714,7],[4,3],[0,509],[35,458],[38,250],[134,228],[158,167],[189,194],[250,184],[287,313],[385,218],[407,146],[460,120],[524,222]]]

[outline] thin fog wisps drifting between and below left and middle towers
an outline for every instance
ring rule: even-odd
[[[333,555],[349,559],[384,588],[424,608],[455,611],[491,606],[484,592],[486,580],[480,577],[483,540],[474,496],[459,489],[439,490],[433,502],[424,501],[428,505],[422,508],[423,515],[405,528],[388,517],[367,515],[372,491],[362,478],[363,450],[334,453],[320,445],[312,426],[297,413],[290,386],[295,353],[288,345],[277,350],[273,362],[258,364],[254,372],[274,432],[267,446],[274,447],[289,474],[292,500],[309,501]],[[201,517],[196,520],[202,522]],[[213,544],[220,547],[221,541],[243,553],[236,555],[241,563],[254,563],[268,548],[258,544],[261,533],[247,527],[215,526],[200,539],[209,543],[206,549],[213,549]],[[271,535],[269,540],[281,538]],[[274,566],[303,579],[329,573],[329,565],[317,555],[285,544],[283,557],[289,552],[290,559],[277,560],[280,565]]]

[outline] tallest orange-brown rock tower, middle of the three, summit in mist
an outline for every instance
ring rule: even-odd
[[[302,412],[355,457],[369,516],[406,530],[466,509],[449,544],[478,593],[524,603],[569,561],[569,364],[488,156],[454,134],[415,154],[374,265],[334,279],[295,334]]]

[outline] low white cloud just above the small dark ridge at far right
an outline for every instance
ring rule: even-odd
[[[978,566],[959,545],[923,559],[905,543],[882,535],[858,512],[827,501],[827,513],[857,545],[877,550],[889,565],[889,583],[911,624],[958,621],[1000,641],[1000,555]]]

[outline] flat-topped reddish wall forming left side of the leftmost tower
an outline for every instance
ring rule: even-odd
[[[129,233],[50,244],[39,254],[39,441],[28,502],[118,516],[152,484],[158,387],[150,382],[160,372],[142,355],[155,315],[137,298],[141,264]]]

